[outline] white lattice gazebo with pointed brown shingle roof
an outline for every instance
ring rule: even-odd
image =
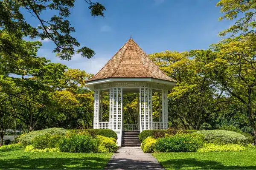
[[[145,52],[129,39],[107,64],[86,82],[94,91],[93,128],[111,129],[117,133],[121,146],[123,130],[168,128],[168,90],[176,85]],[[123,124],[123,94],[138,93],[137,124]],[[109,121],[102,121],[102,99],[109,96]],[[157,96],[159,119],[152,119],[152,97]]]

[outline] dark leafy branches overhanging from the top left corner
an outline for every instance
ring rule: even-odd
[[[105,7],[100,3],[93,3],[90,0],[84,0],[89,4],[91,15],[104,16]],[[81,53],[81,56],[91,58],[95,53],[88,47],[79,47],[80,44],[71,36],[75,28],[70,26],[68,17],[70,16],[70,8],[74,6],[74,0],[3,0],[0,1],[0,34],[8,32],[8,34],[16,40],[22,40],[23,37],[40,37],[42,40],[49,39],[55,43],[54,53],[61,59],[71,59],[75,53]],[[21,11],[26,11],[35,17],[40,26],[32,27],[24,19]],[[54,10],[58,15],[54,14],[50,18],[43,18],[42,13],[47,10]],[[23,54],[23,50],[13,44],[11,40],[0,39],[0,51],[9,54]],[[6,45],[5,45],[6,44]],[[13,55],[12,55],[13,56]],[[21,57],[26,54],[21,55]]]

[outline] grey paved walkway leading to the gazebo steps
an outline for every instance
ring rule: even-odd
[[[140,147],[122,147],[114,153],[105,170],[164,170],[150,153]]]

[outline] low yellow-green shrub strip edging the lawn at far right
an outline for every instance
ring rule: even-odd
[[[213,144],[206,143],[204,147],[197,150],[197,152],[221,152],[221,151],[240,151],[245,150],[246,147],[239,144]]]

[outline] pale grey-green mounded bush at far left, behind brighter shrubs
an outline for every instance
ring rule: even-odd
[[[17,138],[17,141],[19,141],[23,145],[29,145],[31,144],[32,140],[37,136],[43,136],[46,133],[52,134],[52,135],[62,135],[65,136],[67,133],[66,129],[63,128],[49,128],[44,130],[35,130],[26,134],[22,134]]]

